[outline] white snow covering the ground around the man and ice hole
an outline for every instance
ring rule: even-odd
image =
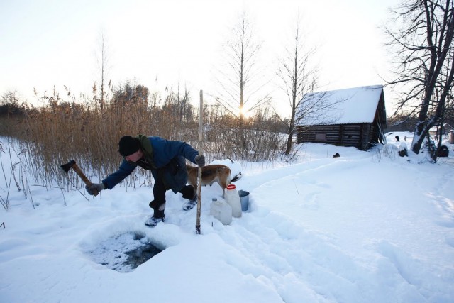
[[[0,302],[454,302],[448,147],[436,164],[316,143],[297,162],[241,162],[235,184],[250,192],[248,211],[224,226],[209,214],[221,187],[202,187],[201,235],[181,194],[167,192],[166,221],[149,228],[148,187],[118,185],[87,202],[85,192],[32,186],[33,209],[11,186]],[[145,243],[163,250],[122,267]]]

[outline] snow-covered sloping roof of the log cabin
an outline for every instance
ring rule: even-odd
[[[373,85],[306,94],[303,99],[321,98],[323,106],[304,116],[299,125],[372,123],[382,91],[382,85]]]

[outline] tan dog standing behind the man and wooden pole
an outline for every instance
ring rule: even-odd
[[[187,168],[187,182],[194,187],[194,190],[197,192],[197,177],[198,177],[198,167],[192,167],[186,165]],[[205,165],[201,169],[201,184],[210,185],[214,182],[222,187],[223,194],[226,192],[226,187],[231,183],[231,170],[226,165]]]

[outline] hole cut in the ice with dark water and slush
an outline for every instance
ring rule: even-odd
[[[98,247],[89,250],[89,254],[96,263],[111,270],[132,272],[161,251],[145,234],[131,232],[107,238]]]

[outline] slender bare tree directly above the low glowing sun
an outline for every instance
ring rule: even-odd
[[[226,43],[226,67],[218,69],[216,82],[221,87],[216,101],[238,118],[239,143],[246,147],[244,136],[245,114],[267,101],[269,94],[262,94],[265,85],[255,65],[261,43],[255,39],[252,23],[245,12],[233,28],[233,36]]]

